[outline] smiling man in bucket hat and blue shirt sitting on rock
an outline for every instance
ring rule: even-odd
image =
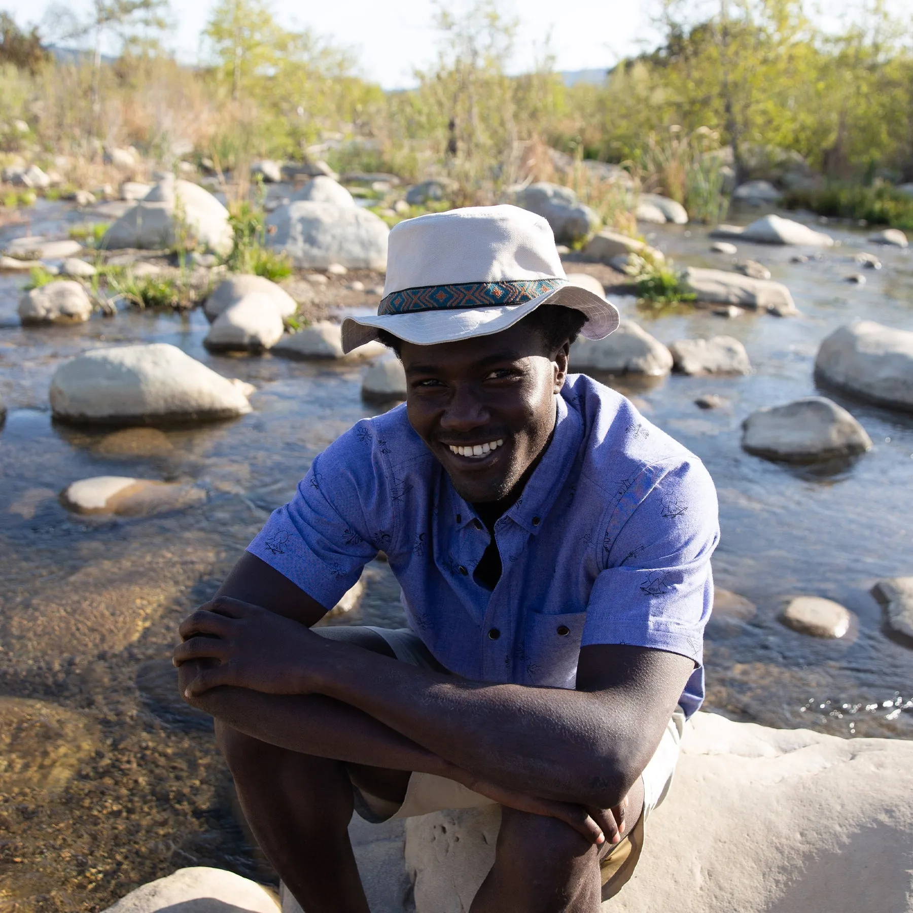
[[[697,457],[568,374],[617,311],[513,206],[396,226],[378,316],[404,406],[310,467],[181,627],[257,840],[307,913],[366,913],[347,835],[501,806],[472,913],[594,913],[631,876],[703,699],[719,530]],[[384,551],[409,627],[310,625]]]

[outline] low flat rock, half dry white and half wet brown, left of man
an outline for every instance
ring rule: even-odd
[[[202,504],[206,493],[193,485],[149,478],[95,476],[73,482],[60,497],[64,507],[76,513],[140,517]]]

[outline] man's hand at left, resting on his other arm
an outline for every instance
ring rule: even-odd
[[[188,700],[220,685],[307,694],[309,659],[329,647],[303,624],[226,596],[201,605],[179,630],[184,643],[174,648],[173,663],[194,670],[182,675]]]

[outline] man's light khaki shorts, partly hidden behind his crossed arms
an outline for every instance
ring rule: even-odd
[[[383,637],[394,656],[401,663],[410,666],[446,671],[421,639],[408,628],[379,628],[365,626],[322,627],[313,629],[316,634],[332,640],[361,642],[364,645],[364,631],[372,631]],[[370,636],[370,635],[368,635]],[[603,876],[603,900],[614,897],[634,874],[637,860],[644,846],[645,821],[649,814],[666,798],[678,761],[678,746],[685,729],[685,711],[677,707],[659,747],[641,774],[644,782],[644,811],[624,840],[605,856],[600,869]],[[352,785],[355,796],[355,811],[372,824],[392,821],[398,818],[412,818],[420,814],[443,812],[447,809],[482,808],[495,804],[487,796],[473,792],[462,783],[438,777],[433,773],[413,773],[409,778],[402,804],[390,802],[371,793],[363,792]]]

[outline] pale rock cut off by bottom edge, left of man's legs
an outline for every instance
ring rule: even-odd
[[[131,891],[104,913],[280,913],[256,881],[221,868],[179,868]]]

